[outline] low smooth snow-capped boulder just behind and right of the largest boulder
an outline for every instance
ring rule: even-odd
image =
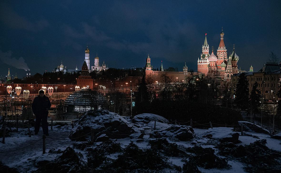
[[[139,114],[139,115],[136,115],[133,117],[134,123],[136,123],[136,122],[149,123],[151,121],[158,121],[158,122],[162,122],[162,123],[169,122],[166,118],[161,117],[160,115],[155,115],[155,114],[151,114],[151,113],[142,113],[142,114]]]

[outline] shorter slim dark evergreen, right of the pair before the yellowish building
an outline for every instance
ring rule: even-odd
[[[251,114],[254,113],[255,116],[256,116],[256,112],[258,111],[258,108],[261,105],[260,99],[262,98],[260,94],[260,90],[257,89],[257,87],[258,87],[258,82],[255,82],[250,95],[250,109],[249,109],[251,111]]]

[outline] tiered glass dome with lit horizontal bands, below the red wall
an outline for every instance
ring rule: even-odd
[[[70,94],[64,101],[64,106],[80,106],[80,107],[93,107],[96,105],[105,105],[106,98],[91,89],[81,89]]]

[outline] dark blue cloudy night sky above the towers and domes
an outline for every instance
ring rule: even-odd
[[[91,65],[98,53],[108,67],[144,67],[149,54],[155,69],[162,60],[182,71],[186,61],[196,71],[205,33],[216,50],[221,27],[238,68],[258,71],[271,51],[281,58],[280,1],[189,2],[1,1],[0,75],[43,74],[61,61],[81,69],[87,44]]]

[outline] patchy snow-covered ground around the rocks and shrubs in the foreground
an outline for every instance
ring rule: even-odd
[[[128,119],[127,119],[128,120]],[[126,121],[127,121],[126,120]],[[146,119],[146,121],[148,121]],[[129,121],[128,121],[129,122]],[[139,120],[137,121],[140,122]],[[149,121],[148,121],[149,122]],[[162,121],[163,122],[163,121]],[[100,122],[99,122],[100,123]],[[130,122],[132,123],[132,121]],[[133,123],[132,123],[133,124]],[[141,126],[141,127],[139,127]],[[156,124],[156,130],[162,130],[169,126],[170,124],[163,124],[158,123]],[[144,127],[148,127],[150,129],[153,129],[154,122],[150,122],[148,124],[137,124],[136,127],[142,131]],[[75,127],[74,127],[75,128]],[[77,127],[76,127],[77,128]],[[194,128],[194,134],[195,138],[186,140],[186,141],[180,141],[176,138],[170,138],[167,137],[167,141],[169,143],[176,143],[178,146],[183,146],[185,148],[188,147],[194,147],[194,146],[201,146],[203,148],[212,148],[215,150],[215,154],[220,158],[225,158],[224,156],[218,155],[219,152],[218,148],[215,148],[217,144],[219,144],[219,140],[225,137],[231,137],[232,134],[235,134],[237,132],[233,131],[233,128],[230,127],[214,127],[213,129],[196,129]],[[31,127],[31,131],[34,132],[34,128]],[[19,172],[32,172],[37,170],[38,168],[35,167],[37,164],[44,163],[44,162],[53,162],[56,157],[58,157],[60,154],[56,153],[54,151],[58,150],[65,150],[67,147],[72,147],[76,152],[80,152],[84,155],[84,161],[87,162],[87,151],[85,150],[79,150],[75,148],[74,144],[81,144],[83,142],[76,142],[71,141],[69,139],[69,134],[72,131],[71,125],[64,125],[64,126],[54,126],[53,130],[49,127],[49,138],[46,138],[46,153],[42,154],[42,129],[40,129],[40,132],[38,135],[32,135],[31,138],[26,134],[27,129],[19,129],[19,132],[12,132],[11,137],[5,138],[5,144],[0,143],[0,160],[5,165],[16,168]],[[146,131],[147,132],[147,131]],[[240,134],[240,132],[238,132]],[[208,137],[209,135],[209,137]],[[239,136],[239,141],[241,143],[235,144],[235,145],[249,145],[250,143],[253,143],[257,140],[266,139],[267,143],[266,146],[272,150],[281,151],[281,145],[280,140],[273,139],[267,134],[263,133],[257,133],[257,132],[248,132],[248,136]],[[253,136],[256,136],[260,139],[254,138]],[[56,138],[56,139],[51,139]],[[89,136],[87,137],[90,138]],[[61,140],[60,140],[61,139]],[[125,148],[130,144],[131,142],[135,143],[139,148],[141,149],[147,149],[149,148],[149,140],[153,140],[155,138],[151,138],[149,134],[144,134],[142,137],[142,140],[137,139],[131,139],[129,137],[127,138],[121,138],[121,139],[115,139],[115,141],[119,142],[121,144],[122,148]],[[2,141],[2,138],[0,139]],[[35,143],[36,142],[36,143]],[[33,144],[35,143],[35,144]],[[94,143],[91,147],[95,148],[102,142]],[[32,144],[32,145],[30,145]],[[30,146],[29,146],[30,145]],[[27,146],[27,147],[26,147]],[[24,148],[25,147],[25,148]],[[23,149],[21,149],[23,148]],[[16,150],[16,151],[13,151]],[[49,152],[49,151],[53,152]],[[10,151],[10,152],[6,152]],[[6,153],[3,153],[6,152]],[[117,158],[117,154],[109,155],[108,157],[112,159]],[[183,158],[182,157],[169,157],[169,161],[173,163],[174,165],[183,167]],[[241,163],[238,160],[235,160],[233,158],[228,159],[228,164],[232,167],[230,169],[204,169],[203,167],[198,167],[198,169],[201,172],[245,172],[243,167],[245,166],[245,163]],[[163,169],[163,172],[170,172],[173,170],[170,169]]]

